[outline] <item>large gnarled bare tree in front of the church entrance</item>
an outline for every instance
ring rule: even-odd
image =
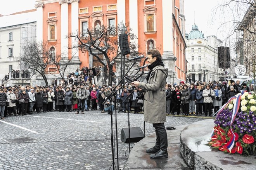
[[[128,36],[130,40],[137,38],[131,33],[131,29],[128,30]],[[108,78],[109,85],[112,85],[114,63],[116,59],[121,57],[121,51],[118,50],[119,41],[117,27],[106,27],[102,25],[97,28],[88,28],[86,32],[77,33],[76,35],[73,34],[68,37],[76,37],[78,41],[78,44],[73,45],[71,48],[79,48],[83,53],[88,51],[99,60],[107,74],[107,76],[104,77],[104,83],[106,83],[106,79]],[[133,43],[129,45],[131,50],[130,55],[137,55],[138,52],[136,49],[138,46]],[[103,54],[104,59],[101,59],[99,54]]]

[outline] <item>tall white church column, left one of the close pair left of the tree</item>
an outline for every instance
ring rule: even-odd
[[[60,0],[61,4],[61,54],[68,57],[68,0]]]

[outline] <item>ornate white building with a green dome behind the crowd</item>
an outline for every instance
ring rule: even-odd
[[[223,75],[218,68],[218,46],[222,41],[216,36],[204,37],[196,24],[189,34],[186,33],[187,79],[191,82],[213,81]]]

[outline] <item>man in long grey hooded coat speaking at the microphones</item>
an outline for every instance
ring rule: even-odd
[[[152,123],[156,129],[156,145],[146,150],[151,158],[168,158],[167,133],[164,126],[166,122],[165,85],[168,69],[164,68],[162,56],[156,49],[147,52],[149,73],[147,83],[132,82],[138,90],[144,90],[144,121]]]

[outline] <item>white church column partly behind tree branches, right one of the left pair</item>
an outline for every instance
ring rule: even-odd
[[[72,34],[78,34],[78,2],[80,0],[69,0],[71,3],[71,32]],[[72,45],[76,46],[78,40],[76,37],[72,37]],[[72,49],[72,56],[78,57],[78,50],[76,48]]]

